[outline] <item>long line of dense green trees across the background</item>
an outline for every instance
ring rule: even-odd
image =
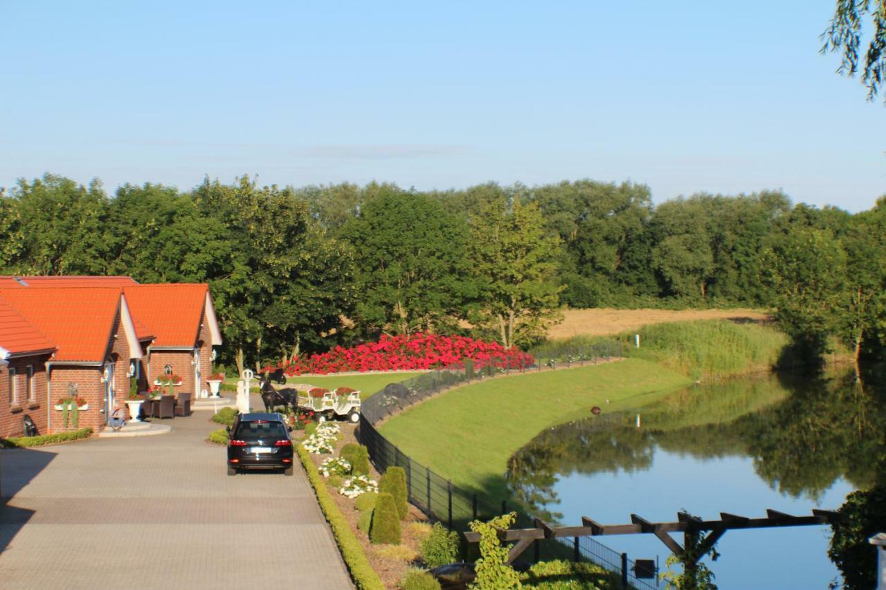
[[[831,335],[879,349],[886,327],[886,199],[853,215],[778,191],[653,206],[631,182],[422,192],[247,177],[111,197],[55,175],[0,194],[0,272],[210,283],[229,351],[257,360],[382,331],[527,346],[563,305],[776,307],[811,354]]]

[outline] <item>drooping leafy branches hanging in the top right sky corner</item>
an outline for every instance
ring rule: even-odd
[[[870,37],[862,43],[866,29]],[[861,82],[867,88],[867,99],[873,100],[886,76],[886,0],[836,0],[834,15],[821,38],[825,42],[821,52],[840,53],[843,59],[837,73],[849,76],[858,73],[859,51],[867,44]]]

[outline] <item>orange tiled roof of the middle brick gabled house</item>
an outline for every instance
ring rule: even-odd
[[[0,288],[0,298],[58,346],[53,360],[105,360],[120,287]]]

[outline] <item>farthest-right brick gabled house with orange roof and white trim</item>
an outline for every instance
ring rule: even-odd
[[[182,377],[179,389],[198,398],[212,373],[213,346],[221,330],[206,283],[137,284],[123,287],[133,317],[154,339],[145,349],[141,387],[166,372]],[[136,328],[136,332],[138,329]]]

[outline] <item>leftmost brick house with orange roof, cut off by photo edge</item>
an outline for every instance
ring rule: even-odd
[[[47,423],[46,362],[56,345],[0,299],[0,437],[21,436],[25,419],[37,431]]]

